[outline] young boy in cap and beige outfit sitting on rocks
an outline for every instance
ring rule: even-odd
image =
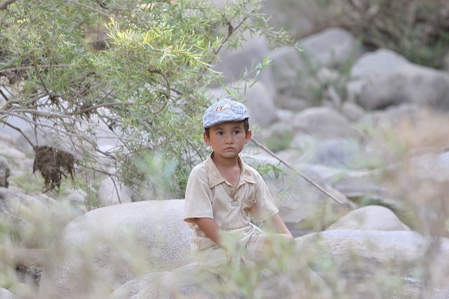
[[[293,243],[261,175],[239,156],[251,137],[248,119],[246,107],[228,99],[206,109],[203,139],[213,152],[192,169],[185,194],[192,251],[223,280],[229,263],[257,261],[270,244]],[[251,216],[274,233],[253,226]]]

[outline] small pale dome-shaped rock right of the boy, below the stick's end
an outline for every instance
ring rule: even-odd
[[[365,206],[350,211],[326,230],[410,230],[389,209],[383,206]]]

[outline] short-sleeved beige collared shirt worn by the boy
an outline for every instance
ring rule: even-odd
[[[213,218],[222,230],[248,231],[251,215],[262,222],[279,213],[260,173],[239,157],[241,175],[234,188],[222,177],[211,156],[192,169],[187,182],[184,220],[195,234],[202,232],[193,218]]]

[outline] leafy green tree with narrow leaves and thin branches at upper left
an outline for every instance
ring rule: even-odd
[[[272,45],[289,42],[260,7],[260,0],[4,1],[0,128],[26,138],[47,190],[102,173],[182,196],[190,168],[206,157],[201,116],[215,100],[208,86],[239,96],[213,70],[220,51],[241,46],[248,32]]]

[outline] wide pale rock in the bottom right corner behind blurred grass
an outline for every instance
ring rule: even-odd
[[[425,291],[427,298],[447,298],[448,239],[406,230],[327,230],[296,241],[330,286],[345,286],[345,297],[413,298]]]

